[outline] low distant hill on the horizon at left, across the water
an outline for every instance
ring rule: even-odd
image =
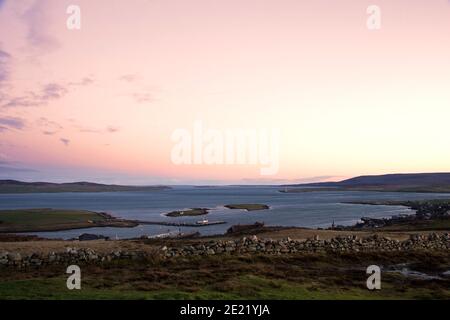
[[[122,186],[92,182],[23,182],[0,180],[0,193],[53,193],[53,192],[115,192],[115,191],[159,191],[170,189],[167,186]]]

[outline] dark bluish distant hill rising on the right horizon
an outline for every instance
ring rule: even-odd
[[[450,192],[450,173],[406,173],[359,176],[339,182],[288,185],[343,190]]]

